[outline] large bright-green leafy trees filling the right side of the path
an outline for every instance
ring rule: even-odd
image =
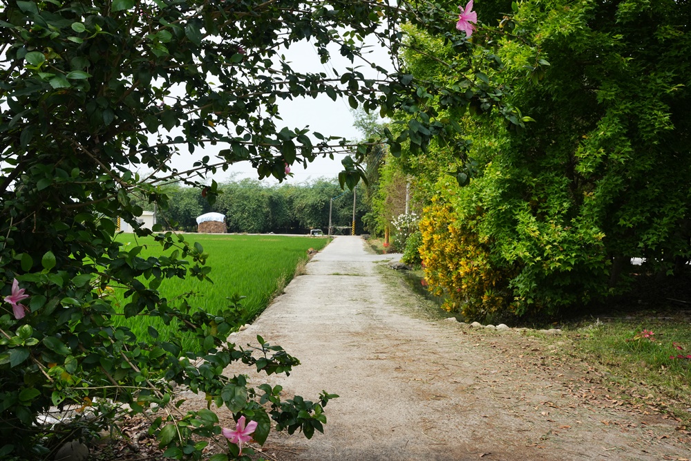
[[[536,0],[513,9],[497,41],[506,65],[487,77],[511,88],[504,107],[532,121],[507,129],[500,111],[457,118],[476,160],[468,171],[439,142],[408,159],[418,190],[437,195],[425,247],[427,262],[442,267],[437,288],[471,317],[544,315],[628,290],[641,272],[632,257],[679,274],[691,257],[689,3]],[[448,44],[419,29],[409,40],[413,75],[448,78]],[[452,240],[457,262],[482,254],[485,266],[448,269],[442,252]]]

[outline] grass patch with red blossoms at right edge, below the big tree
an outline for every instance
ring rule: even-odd
[[[569,332],[576,349],[618,382],[654,389],[677,410],[691,405],[691,323],[685,314],[638,313]],[[688,356],[688,357],[687,357]],[[688,416],[685,415],[685,416]]]

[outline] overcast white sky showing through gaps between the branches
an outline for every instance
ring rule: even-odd
[[[376,62],[377,65],[392,69],[390,64],[390,57],[388,56],[386,48],[381,48],[379,44],[370,46],[371,54],[368,59]],[[338,48],[332,50],[332,59],[327,64],[322,65],[319,62],[319,55],[312,44],[301,42],[286,50],[285,58],[288,62],[294,63],[294,69],[298,71],[311,72],[326,72],[333,76],[331,69],[337,68],[339,75],[345,72],[346,67],[359,65],[359,63],[351,64],[348,59],[341,57]],[[378,77],[378,73],[370,68],[369,64],[361,63],[359,70],[366,75],[366,77]],[[338,99],[335,102],[327,95],[320,95],[316,99],[311,97],[308,99],[296,99],[292,101],[283,101],[280,105],[281,117],[283,123],[278,123],[278,129],[287,126],[290,129],[304,128],[309,126],[310,131],[318,131],[323,135],[337,135],[348,139],[358,139],[361,137],[360,133],[353,126],[352,113],[350,106],[345,100]],[[280,122],[280,121],[279,121]],[[173,163],[179,171],[191,168],[194,161],[202,156],[213,156],[214,152],[210,151],[213,147],[205,151],[196,151],[194,156],[189,153],[183,153],[177,158],[173,158]],[[307,169],[303,169],[301,165],[294,165],[291,173],[292,178],[289,182],[304,182],[307,180],[314,180],[316,178],[337,178],[339,171],[343,169],[341,165],[341,158],[343,156],[336,156],[334,160],[330,158],[317,158],[308,165]],[[211,177],[209,177],[210,179]],[[220,171],[213,176],[217,182],[223,182],[234,178],[239,180],[242,178],[258,178],[257,173],[248,162],[241,162],[234,164],[227,171]],[[267,178],[265,181],[269,183],[276,183],[273,178]]]

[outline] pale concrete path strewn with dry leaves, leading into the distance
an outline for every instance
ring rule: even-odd
[[[272,435],[278,460],[683,460],[675,422],[621,405],[569,341],[486,332],[410,314],[358,237],[338,237],[307,264],[237,344],[262,335],[302,365],[271,377],[287,396],[341,397],[325,434]],[[240,368],[242,373],[246,369]],[[254,384],[260,384],[256,382]],[[646,414],[647,413],[647,414]]]

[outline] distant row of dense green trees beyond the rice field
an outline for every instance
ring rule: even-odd
[[[251,179],[226,182],[218,187],[220,194],[214,205],[209,205],[200,189],[179,185],[169,185],[166,189],[169,208],[157,207],[156,220],[167,229],[194,232],[197,216],[216,211],[225,214],[228,232],[307,234],[310,229],[323,229],[326,234],[329,202],[333,197],[339,197],[333,203],[333,225],[352,223],[352,192],[344,193],[337,180],[319,179],[297,185],[265,185]],[[362,217],[368,207],[363,203],[361,191],[357,192],[356,232],[361,234]],[[140,205],[153,209],[151,204]]]

